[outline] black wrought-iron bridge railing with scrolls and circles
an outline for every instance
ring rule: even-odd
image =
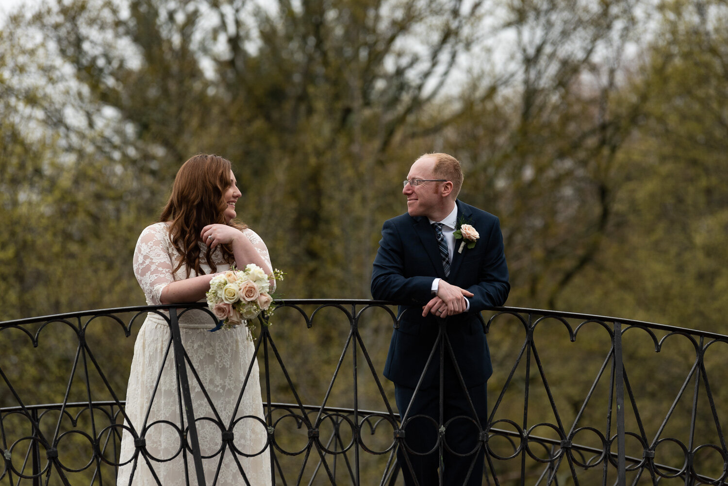
[[[403,484],[400,467],[407,465],[395,452],[416,454],[400,434],[412,418],[400,423],[392,384],[379,375],[396,325],[393,307],[291,299],[280,302],[274,324],[261,326],[255,342],[264,415],[248,423],[267,438],[258,451],[236,442],[239,421],[200,418],[191,407],[189,383],[197,374],[177,316],[207,312],[201,305],[0,323],[0,485],[113,485],[124,430],[135,437],[135,454],[122,462],[151,469],[162,463],[146,450],[154,427],[124,415],[133,340],[146,313],[162,309],[169,310],[184,410],[173,425],[187,484],[215,482],[200,467],[208,459],[197,444],[198,428],[210,424],[220,437],[208,455],[236,460],[239,484],[247,477],[240,460],[258,454],[269,457],[275,485]],[[547,310],[486,314],[495,371],[488,422],[478,431],[484,484],[726,482],[728,336]],[[443,321],[433,353],[447,351],[446,329]],[[448,447],[446,434],[437,447]]]

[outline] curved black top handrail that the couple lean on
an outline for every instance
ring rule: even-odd
[[[274,301],[279,306],[287,305],[397,305],[395,302],[389,302],[386,300],[372,300],[372,299],[279,299]],[[114,313],[131,313],[131,312],[145,312],[149,310],[166,310],[170,308],[204,308],[207,307],[205,302],[191,302],[187,304],[167,304],[167,305],[132,305],[128,307],[109,307],[106,309],[94,309],[94,310],[78,310],[70,313],[58,313],[51,315],[41,315],[38,317],[28,317],[14,319],[12,321],[0,321],[0,327],[4,326],[17,326],[23,324],[34,324],[43,321],[50,321],[57,318],[80,318],[84,316],[95,316],[104,314]],[[649,321],[637,321],[635,319],[618,318],[609,315],[598,315],[598,314],[587,314],[587,313],[574,313],[566,312],[561,310],[545,310],[535,309],[529,307],[488,307],[487,311],[495,313],[517,313],[517,314],[528,314],[528,315],[541,315],[550,316],[557,318],[571,318],[571,319],[582,319],[583,321],[603,321],[603,322],[619,322],[622,325],[627,326],[644,326],[651,329],[660,329],[666,332],[678,332],[686,334],[695,334],[696,336],[707,337],[710,339],[717,340],[728,340],[728,334],[719,334],[716,332],[708,332],[700,329],[689,329],[686,327],[670,326],[668,324],[658,324]]]

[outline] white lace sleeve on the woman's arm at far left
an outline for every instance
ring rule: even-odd
[[[167,226],[157,223],[146,227],[134,250],[134,275],[149,305],[162,303],[162,289],[174,281],[173,270]]]

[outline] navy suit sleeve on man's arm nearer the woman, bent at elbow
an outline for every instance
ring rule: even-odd
[[[404,245],[392,220],[384,222],[371,275],[371,295],[400,305],[424,304],[432,298],[434,277],[405,277]]]

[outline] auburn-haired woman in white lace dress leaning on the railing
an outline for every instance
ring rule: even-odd
[[[233,263],[238,268],[254,263],[270,275],[265,243],[235,219],[239,197],[229,160],[199,154],[182,165],[159,222],[143,230],[134,252],[134,273],[147,304],[204,300],[210,279]],[[271,280],[272,290],[274,286]],[[210,314],[197,309],[179,312],[182,343],[199,376],[198,380],[187,364],[206,484],[270,485],[267,429],[250,331],[237,326],[209,332],[215,326]],[[197,485],[194,459],[183,439],[187,420],[170,340],[165,318],[149,313],[135,342],[124,407],[124,425],[139,439],[124,429],[117,486]],[[223,431],[228,441],[232,432],[234,447],[223,442]]]

